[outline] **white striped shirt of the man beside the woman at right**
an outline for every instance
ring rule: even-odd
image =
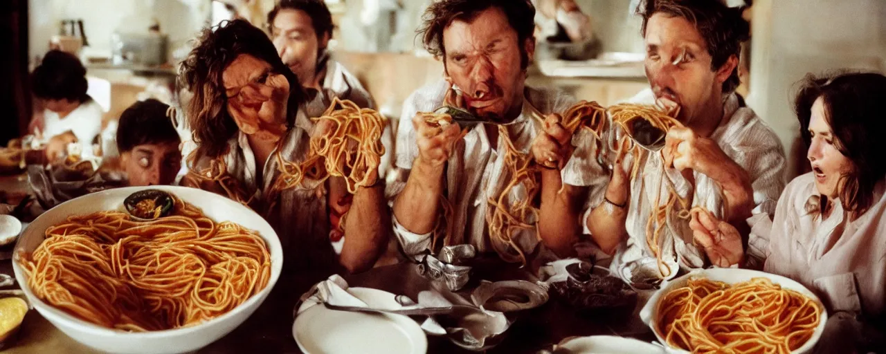
[[[651,90],[647,89],[629,102],[654,104],[654,96],[651,95]],[[750,175],[755,205],[752,213],[772,215],[785,185],[786,160],[778,136],[753,110],[742,107],[737,95],[731,94],[725,97],[723,119],[710,138],[717,142],[727,157],[742,166]],[[667,180],[671,181],[681,197],[691,197],[691,206],[702,206],[714,216],[723,217],[722,205],[725,201],[716,181],[702,173],[693,173],[696,180],[693,188],[693,185],[673,168],[665,169],[663,176],[662,159],[658,154],[642,150],[640,161],[641,166],[637,175],[641,178],[632,181],[628,203],[626,229],[629,237],[619,246],[610,265],[610,268],[616,272],[620,272],[622,266],[632,261],[654,258],[647,245],[646,226],[647,220],[652,215],[656,196],[661,196],[661,204],[664,204],[669,196]],[[626,157],[625,164],[633,166],[631,154]],[[599,196],[599,199],[589,204],[598,205],[601,202],[602,196]],[[589,208],[582,220],[587,220],[590,212]],[[587,223],[582,222],[582,224],[585,225],[585,233],[590,234]],[[707,258],[703,250],[696,247],[693,241],[689,220],[681,219],[678,212],[669,215],[667,225],[659,235],[659,239],[662,257],[671,259],[672,266],[679,265],[685,269],[705,266]],[[676,270],[672,269],[672,274],[676,274]]]

